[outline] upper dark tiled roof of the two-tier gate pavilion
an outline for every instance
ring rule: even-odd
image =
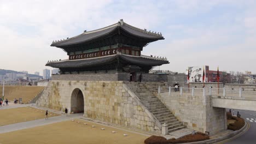
[[[161,33],[156,33],[156,32],[153,33],[150,31],[148,32],[148,31],[146,31],[146,29],[143,30],[143,29],[133,27],[133,26],[125,23],[123,20],[120,20],[119,22],[115,23],[114,25],[111,25],[108,27],[96,29],[94,31],[84,32],[80,35],[77,35],[77,36],[69,38],[69,39],[53,41],[51,46],[67,46],[67,45],[85,43],[86,41],[90,41],[92,39],[103,37],[104,35],[107,35],[113,31],[115,31],[118,28],[120,28],[121,30],[123,30],[129,34],[135,35],[136,37],[141,37],[141,38],[146,38],[146,39],[154,39],[154,40],[164,39],[164,37],[162,37]]]

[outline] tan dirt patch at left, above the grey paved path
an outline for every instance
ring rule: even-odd
[[[45,111],[35,109],[33,107],[20,107],[14,109],[0,110],[0,126],[25,121],[33,121],[35,119],[45,118]],[[49,112],[49,117],[57,116],[56,113]],[[1,141],[0,141],[1,143]]]

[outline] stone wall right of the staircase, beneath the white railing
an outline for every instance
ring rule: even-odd
[[[212,135],[227,127],[225,109],[212,107],[210,95],[191,96],[173,92],[171,95],[160,93],[158,97],[189,129],[202,133],[210,131]]]

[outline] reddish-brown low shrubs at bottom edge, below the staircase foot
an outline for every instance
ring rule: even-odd
[[[209,140],[210,137],[197,132],[195,135],[186,135],[179,139],[169,139],[166,140],[165,137],[162,136],[150,136],[148,139],[144,141],[145,144],[168,144],[168,143],[184,143],[184,142],[195,142],[195,141],[203,141],[203,140]]]

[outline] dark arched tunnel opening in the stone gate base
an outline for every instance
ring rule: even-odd
[[[79,88],[75,88],[71,94],[71,112],[84,112],[84,95]]]

